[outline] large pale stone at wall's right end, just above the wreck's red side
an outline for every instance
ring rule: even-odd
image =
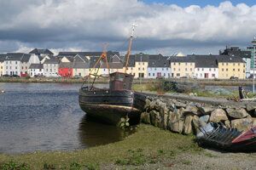
[[[231,127],[237,128],[238,131],[247,132],[250,128],[256,126],[256,118],[243,118],[231,121]]]

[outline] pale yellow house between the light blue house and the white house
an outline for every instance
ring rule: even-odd
[[[171,59],[171,77],[194,77],[195,58],[172,57]]]

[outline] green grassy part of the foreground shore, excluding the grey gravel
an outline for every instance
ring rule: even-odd
[[[24,164],[28,169],[100,169],[106,164],[138,166],[174,159],[182,153],[201,153],[203,150],[194,143],[194,139],[194,136],[183,136],[141,124],[137,133],[113,144],[86,150],[0,155],[0,161],[3,164],[10,161],[18,165]]]

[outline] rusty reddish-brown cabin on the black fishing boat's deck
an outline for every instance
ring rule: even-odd
[[[113,72],[109,74],[109,88],[111,90],[131,90],[133,75],[123,72]]]

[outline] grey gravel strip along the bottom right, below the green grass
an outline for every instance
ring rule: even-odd
[[[205,150],[200,154],[182,154],[164,158],[156,163],[145,163],[141,166],[119,166],[108,164],[101,169],[170,169],[170,170],[256,170],[256,153],[228,153],[218,150]]]

